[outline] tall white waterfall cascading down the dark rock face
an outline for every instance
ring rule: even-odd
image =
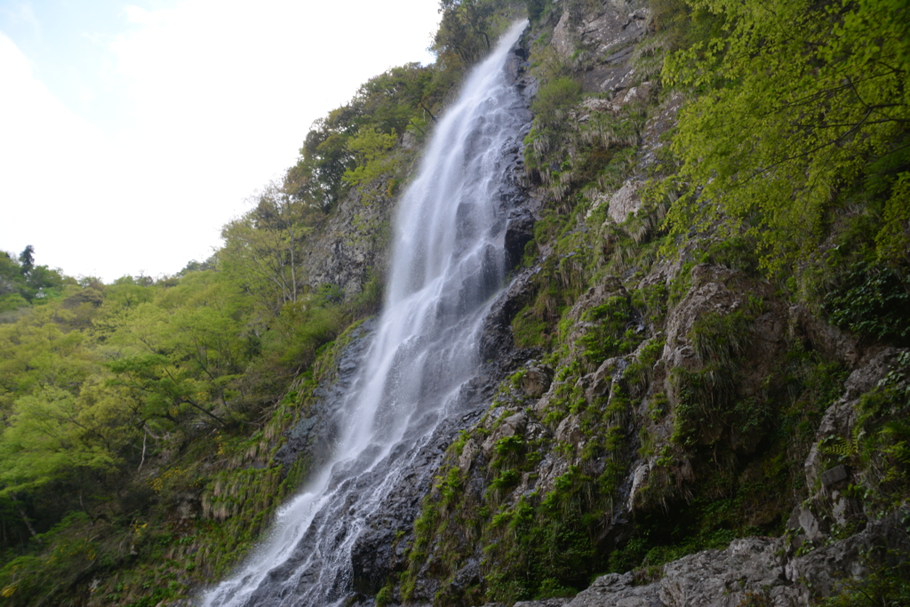
[[[344,402],[334,457],[206,605],[346,601],[351,549],[369,516],[440,423],[470,409],[480,326],[506,266],[505,151],[526,121],[505,65],[525,26],[513,25],[470,74],[401,200],[384,311]]]

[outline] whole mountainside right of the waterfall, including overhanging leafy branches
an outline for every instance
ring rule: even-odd
[[[382,592],[907,601],[906,9],[530,6],[528,361]]]

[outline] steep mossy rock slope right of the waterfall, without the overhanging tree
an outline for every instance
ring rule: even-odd
[[[905,257],[856,252],[883,228],[847,225],[877,204],[867,194],[869,208],[841,206],[838,196],[856,204],[849,184],[836,186],[824,233],[800,238],[859,237],[844,257],[866,264],[864,278],[844,279],[845,259],[800,252],[804,243],[792,247],[792,234],[773,234],[754,212],[754,228],[723,206],[709,223],[668,223],[668,212],[705,217],[705,203],[703,187],[672,168],[685,95],[658,72],[680,27],[661,35],[661,25],[643,5],[566,2],[527,38],[541,78],[525,150],[535,238],[494,306],[484,351],[511,377],[449,446],[413,530],[399,517],[389,582],[379,588],[374,572],[359,587],[379,603],[571,596],[609,571],[634,574],[604,578],[572,604],[630,593],[628,604],[905,595],[910,544],[894,512],[907,489],[910,355],[890,347],[906,343]],[[866,161],[905,170],[880,154]],[[776,240],[763,242],[769,233]],[[825,287],[832,294],[819,295]],[[897,315],[894,329],[840,320],[834,301],[851,288],[859,306],[890,299],[861,322]],[[756,534],[784,539],[672,561]]]

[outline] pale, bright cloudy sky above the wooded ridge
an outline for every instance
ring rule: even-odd
[[[208,258],[314,120],[430,63],[437,0],[0,0],[0,250],[109,282]]]

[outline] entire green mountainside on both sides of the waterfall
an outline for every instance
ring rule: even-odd
[[[721,604],[708,570],[731,605],[910,602],[910,5],[440,11],[437,63],[319,119],[206,261],[0,253],[0,603],[167,605],[243,558],[326,457],[291,429],[381,306],[422,145],[525,16],[503,377],[350,604]]]

